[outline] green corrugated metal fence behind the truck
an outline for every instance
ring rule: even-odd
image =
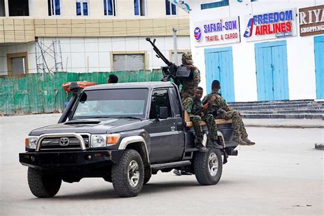
[[[161,70],[140,70],[122,72],[55,72],[27,74],[21,77],[0,78],[0,115],[27,113],[51,113],[64,109],[64,102],[70,99],[62,83],[71,81],[94,81],[107,83],[110,74],[118,76],[118,82],[159,81]]]

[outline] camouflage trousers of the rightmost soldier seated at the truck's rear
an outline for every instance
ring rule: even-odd
[[[224,118],[226,120],[232,119],[234,135],[237,136],[241,135],[241,137],[247,137],[247,132],[245,130],[244,123],[238,111],[236,110],[226,111],[224,113],[220,113],[217,116],[217,118]]]

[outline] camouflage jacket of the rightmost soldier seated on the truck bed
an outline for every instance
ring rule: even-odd
[[[211,94],[207,94],[202,100],[203,104],[209,103],[207,111],[208,113],[215,113],[215,111],[219,109],[224,109],[224,111],[233,110],[230,105],[226,103],[226,100],[221,97],[221,94],[217,92],[211,92]]]

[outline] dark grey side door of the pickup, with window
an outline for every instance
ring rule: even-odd
[[[170,89],[171,90],[171,89]],[[167,107],[168,118],[159,119],[159,107]],[[183,154],[183,129],[178,127],[176,112],[172,110],[167,88],[152,91],[150,105],[150,162],[167,162],[180,159]],[[181,129],[180,131],[178,129]]]

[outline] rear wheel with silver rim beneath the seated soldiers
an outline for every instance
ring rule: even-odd
[[[217,165],[217,169],[211,168],[212,162],[214,165]],[[196,152],[193,159],[193,167],[195,169],[195,178],[197,178],[200,185],[216,185],[221,178],[223,170],[221,151],[210,148],[208,152]]]

